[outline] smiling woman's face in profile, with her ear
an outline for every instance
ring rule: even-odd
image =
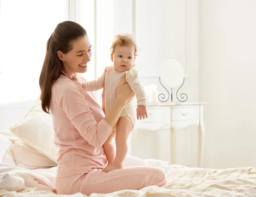
[[[80,37],[72,42],[72,50],[66,54],[58,51],[57,55],[63,61],[64,72],[67,75],[73,75],[77,72],[87,71],[87,63],[92,56],[91,43],[87,35]]]

